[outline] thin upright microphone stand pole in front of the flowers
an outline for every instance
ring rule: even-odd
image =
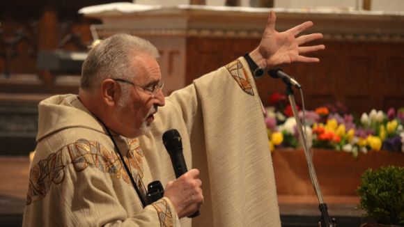
[[[318,223],[318,226],[321,227],[335,227],[336,226],[336,219],[329,219],[328,211],[327,211],[327,204],[323,201],[323,195],[321,194],[320,185],[318,184],[316,171],[314,170],[313,160],[311,159],[311,153],[309,152],[309,148],[307,146],[306,137],[302,130],[302,123],[300,122],[299,113],[297,112],[295,97],[293,96],[293,89],[292,84],[290,81],[283,80],[286,84],[286,94],[288,95],[288,99],[290,102],[290,106],[292,107],[293,116],[295,116],[297,130],[299,130],[300,141],[303,144],[304,148],[304,155],[306,156],[307,166],[309,167],[309,175],[311,179],[311,183],[314,187],[314,191],[316,191],[316,195],[318,197],[318,208],[321,212],[321,219]]]

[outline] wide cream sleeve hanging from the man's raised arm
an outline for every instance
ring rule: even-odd
[[[244,58],[195,79],[166,102],[205,202],[196,226],[280,226],[263,107]],[[165,108],[165,107],[163,107]],[[162,133],[162,132],[160,132]]]

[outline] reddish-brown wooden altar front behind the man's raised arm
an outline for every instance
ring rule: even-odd
[[[188,38],[187,84],[258,45],[258,39]],[[304,88],[307,109],[340,102],[349,111],[387,111],[404,106],[404,45],[401,42],[346,42],[324,40],[326,49],[316,54],[320,63],[295,63],[283,71]],[[313,56],[313,55],[311,55]],[[264,104],[284,85],[269,77],[257,81]],[[300,95],[295,94],[301,105]]]

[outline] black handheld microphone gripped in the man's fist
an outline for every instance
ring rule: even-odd
[[[169,152],[171,163],[173,164],[176,178],[187,173],[187,164],[185,163],[184,155],[182,154],[182,139],[177,130],[168,130],[163,134],[163,143],[166,150]],[[189,217],[199,216],[199,210]]]

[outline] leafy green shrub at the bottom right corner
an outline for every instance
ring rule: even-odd
[[[361,175],[357,189],[359,208],[380,226],[404,225],[404,167],[368,169]],[[363,226],[378,226],[364,224]]]

